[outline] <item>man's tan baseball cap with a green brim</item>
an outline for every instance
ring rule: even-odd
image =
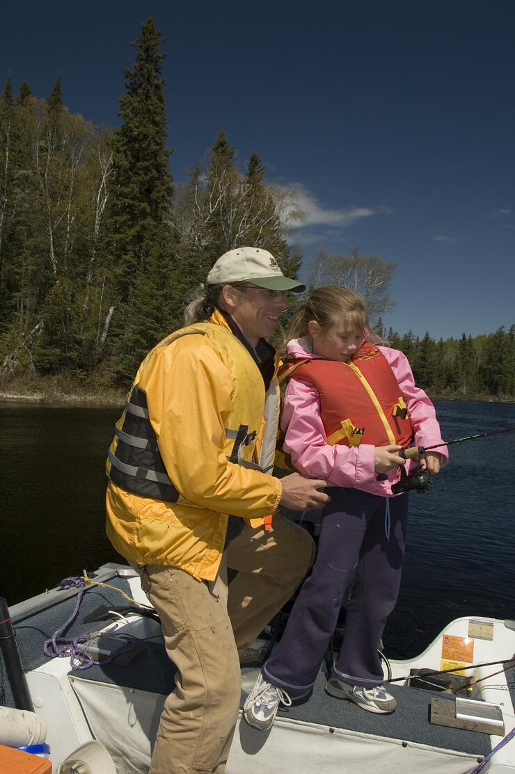
[[[293,293],[302,293],[306,289],[297,279],[283,275],[270,252],[257,247],[237,247],[225,252],[208,274],[208,285],[232,283],[250,283],[267,290]]]

